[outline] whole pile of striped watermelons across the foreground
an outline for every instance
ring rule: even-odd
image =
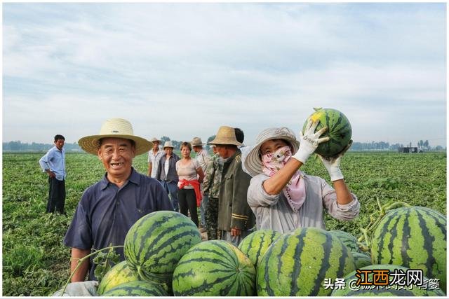
[[[377,225],[370,251],[342,230],[298,228],[281,234],[258,230],[237,248],[201,242],[196,225],[182,214],[156,211],[128,232],[123,262],[100,281],[105,296],[444,296],[446,221],[432,209],[389,211]],[[354,291],[360,271],[422,270],[439,279],[431,289],[404,287]],[[344,288],[326,281],[344,278]],[[396,285],[395,285],[396,284]],[[395,287],[396,286],[396,287]],[[442,291],[443,290],[443,291]]]

